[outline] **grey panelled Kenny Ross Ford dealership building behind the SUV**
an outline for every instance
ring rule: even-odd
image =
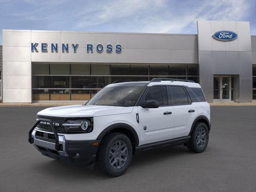
[[[256,101],[256,36],[249,22],[198,21],[197,29],[198,34],[2,30],[0,98],[84,101],[117,80],[158,77],[198,82],[208,102]]]

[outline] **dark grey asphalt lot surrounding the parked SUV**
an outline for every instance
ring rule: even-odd
[[[29,144],[44,108],[0,107],[0,192],[256,191],[256,106],[212,106],[205,152],[178,146],[136,154],[118,178],[52,160]]]

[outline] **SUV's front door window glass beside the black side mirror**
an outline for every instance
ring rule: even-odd
[[[159,106],[168,105],[166,86],[156,86],[150,88],[145,96],[145,101],[147,100],[157,100],[159,102]]]

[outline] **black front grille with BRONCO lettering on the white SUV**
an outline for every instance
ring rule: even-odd
[[[62,123],[65,123],[67,121],[66,118],[62,118],[62,117],[49,117],[49,116],[42,116],[42,115],[38,115],[37,118],[38,119],[48,119],[48,120],[51,120],[52,123],[60,124],[59,126],[54,125],[54,128],[55,128],[56,132],[57,133],[66,133],[66,130],[65,130],[64,126],[62,126]],[[42,131],[52,132],[52,128],[48,124],[41,124],[41,123],[39,123],[36,126],[36,128],[39,129],[39,130],[42,130]]]

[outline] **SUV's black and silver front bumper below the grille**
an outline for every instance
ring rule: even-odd
[[[54,132],[56,133],[53,128]],[[101,140],[70,141],[66,140],[63,135],[53,133],[37,130],[35,126],[29,132],[29,142],[44,156],[67,163],[81,163],[88,168],[94,168]],[[51,135],[51,138],[48,135]]]

